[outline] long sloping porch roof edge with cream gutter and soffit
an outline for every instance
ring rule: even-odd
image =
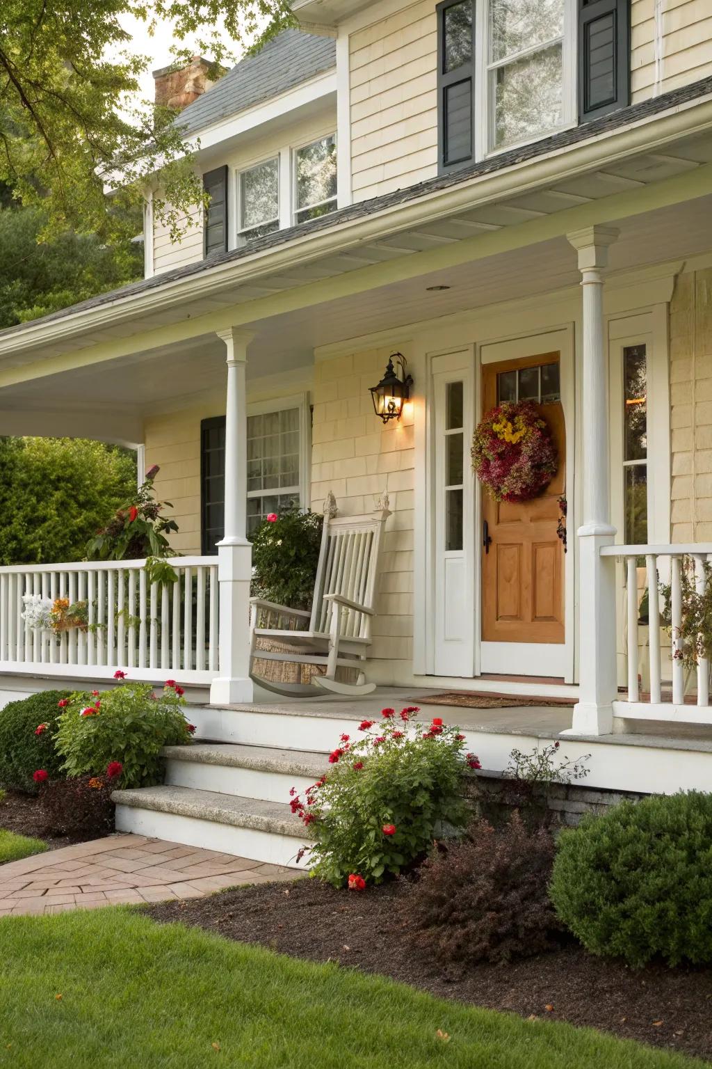
[[[183,337],[195,337],[219,313],[230,325],[257,322],[284,311],[285,297],[292,308],[316,305],[700,197],[711,170],[708,78],[10,327],[0,331],[0,386],[6,369],[137,329],[181,324]]]

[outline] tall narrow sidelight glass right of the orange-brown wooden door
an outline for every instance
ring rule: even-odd
[[[648,413],[645,345],[623,348],[623,510],[627,545],[648,541]]]

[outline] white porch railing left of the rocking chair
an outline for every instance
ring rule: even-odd
[[[210,682],[218,675],[216,557],[175,557],[170,585],[143,560],[0,568],[0,671]],[[84,602],[88,624],[54,632],[22,619],[26,594]]]

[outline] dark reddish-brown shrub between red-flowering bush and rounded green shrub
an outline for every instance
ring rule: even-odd
[[[554,840],[527,831],[517,811],[494,831],[486,820],[441,846],[406,883],[401,911],[416,948],[463,967],[551,950],[563,931],[549,901]]]

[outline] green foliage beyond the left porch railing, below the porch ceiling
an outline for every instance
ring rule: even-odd
[[[83,438],[0,438],[0,563],[82,560],[136,487],[136,459]]]

